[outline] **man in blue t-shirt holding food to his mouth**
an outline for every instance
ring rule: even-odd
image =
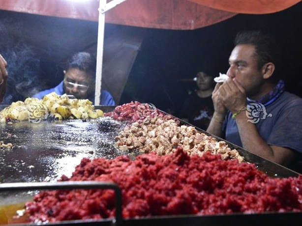
[[[261,31],[237,34],[226,82],[212,93],[207,132],[302,172],[302,98],[278,79],[280,51]]]

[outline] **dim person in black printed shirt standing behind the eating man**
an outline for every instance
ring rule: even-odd
[[[214,88],[213,77],[205,72],[196,75],[198,89],[190,94],[181,108],[181,119],[206,130],[214,113],[212,91]]]

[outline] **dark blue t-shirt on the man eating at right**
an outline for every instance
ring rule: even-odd
[[[250,104],[245,113],[269,145],[291,148],[302,154],[302,98],[283,92],[267,106]],[[236,121],[230,112],[224,128],[225,140],[242,147]]]

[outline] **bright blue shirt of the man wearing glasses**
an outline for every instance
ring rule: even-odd
[[[43,97],[46,94],[49,94],[51,92],[56,92],[58,95],[63,95],[65,93],[64,87],[63,87],[63,81],[60,82],[59,85],[57,85],[54,88],[42,90],[36,94],[34,94],[32,97],[36,97],[38,99],[43,99]],[[88,97],[88,99],[94,104],[94,95],[91,95]],[[106,90],[101,90],[101,101],[100,105],[108,105],[108,106],[115,106],[115,102],[111,94]]]

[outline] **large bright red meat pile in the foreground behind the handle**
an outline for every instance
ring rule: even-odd
[[[253,164],[221,160],[205,153],[143,154],[131,161],[84,158],[71,178],[117,183],[122,191],[122,216],[258,213],[302,211],[302,176],[271,178]],[[31,221],[102,219],[115,216],[112,190],[78,189],[40,192],[26,204]]]

